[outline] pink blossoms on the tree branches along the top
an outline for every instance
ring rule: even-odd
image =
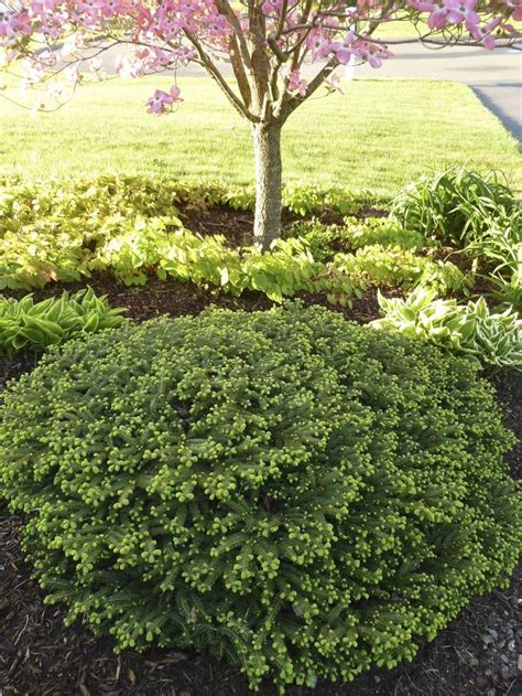
[[[74,62],[81,53],[87,60],[94,57],[87,39],[119,35],[126,43],[135,44],[133,54],[118,61],[117,71],[124,77],[175,69],[198,58],[202,51],[215,61],[228,60],[233,34],[242,32],[248,40],[251,31],[247,4],[240,9],[231,0],[15,0],[14,7],[0,10],[0,52],[7,60],[20,53],[26,55],[31,36],[39,45],[42,40],[54,45],[56,60]],[[363,31],[368,20],[379,18],[382,11],[387,19],[407,12],[412,20],[426,20],[434,31],[452,26],[460,31],[464,26],[487,49],[494,46],[497,29],[513,31],[510,19],[522,20],[522,0],[357,0],[352,7],[347,7],[345,0],[314,6],[304,0],[263,0],[261,7],[267,38],[275,32],[281,51],[291,53],[303,46],[313,62],[336,57],[347,64],[355,58],[372,67],[380,67],[392,54],[370,35],[356,34],[352,28],[362,26]],[[286,14],[280,23],[283,7]],[[25,64],[28,84],[44,79],[56,64],[56,60],[52,64],[42,55],[33,57]],[[304,97],[308,84],[300,74],[301,66],[301,62],[293,63],[295,69],[285,76],[285,86],[291,94]],[[97,62],[90,64],[90,71],[97,78],[105,75]],[[156,90],[148,107],[153,114],[163,114],[178,100],[176,87],[168,93]]]

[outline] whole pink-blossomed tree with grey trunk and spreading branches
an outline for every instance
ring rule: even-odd
[[[89,75],[105,76],[100,53],[115,44],[133,46],[118,61],[121,75],[174,73],[170,92],[156,89],[148,100],[151,114],[171,111],[181,100],[175,84],[180,67],[200,65],[251,127],[254,236],[264,248],[281,233],[282,126],[320,86],[338,86],[334,72],[339,65],[368,62],[377,68],[392,56],[389,45],[396,42],[387,45],[373,38],[380,25],[410,22],[418,41],[492,50],[496,35],[514,34],[510,22],[522,20],[522,0],[11,2],[0,13],[4,67],[21,66],[25,84],[46,84],[58,105],[67,81],[74,87]]]

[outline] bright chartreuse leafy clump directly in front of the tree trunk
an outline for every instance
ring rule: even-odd
[[[281,302],[300,291],[326,289],[351,295],[348,277],[330,279],[324,264],[315,261],[305,242],[278,239],[269,254],[257,247],[231,249],[221,235],[202,237],[187,229],[168,232],[168,219],[153,218],[154,226],[133,228],[100,246],[89,266],[111,269],[126,285],[143,285],[150,269],[162,279],[189,280],[197,286],[220,287],[240,296],[259,290]]]

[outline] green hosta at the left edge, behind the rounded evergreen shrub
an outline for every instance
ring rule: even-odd
[[[46,349],[88,333],[117,326],[122,309],[111,309],[105,297],[91,288],[59,299],[34,302],[0,297],[0,354],[12,355],[23,349]]]

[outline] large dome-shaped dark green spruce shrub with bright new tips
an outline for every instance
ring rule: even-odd
[[[322,308],[70,342],[1,416],[46,600],[252,687],[412,657],[520,550],[513,438],[475,363]]]

